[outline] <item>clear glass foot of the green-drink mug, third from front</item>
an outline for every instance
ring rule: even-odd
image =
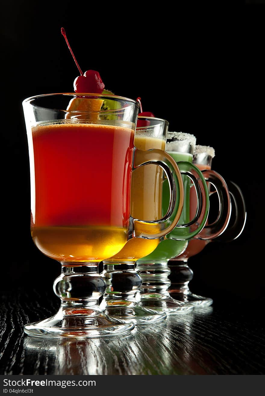
[[[158,312],[166,312],[167,315],[186,314],[194,309],[194,306],[189,303],[177,301],[159,293],[141,294],[140,305]]]

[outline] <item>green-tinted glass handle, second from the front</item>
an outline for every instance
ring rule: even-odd
[[[195,217],[189,223],[178,224],[167,239],[187,240],[194,238],[204,227],[209,213],[209,191],[205,178],[194,164],[187,161],[177,162],[181,175],[187,176],[194,184],[197,195]]]

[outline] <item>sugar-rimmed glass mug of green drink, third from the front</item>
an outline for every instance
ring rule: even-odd
[[[215,185],[219,197],[219,210],[221,213],[226,211],[229,205],[226,190],[223,187],[223,180],[220,180],[215,173],[208,171],[207,175],[192,164],[193,150],[196,145],[196,138],[193,135],[182,132],[169,132],[166,150],[175,159],[181,169],[184,184],[184,206],[178,227],[161,238],[160,244],[148,256],[137,261],[136,270],[142,277],[140,289],[141,305],[155,310],[162,310],[167,314],[176,314],[178,299],[173,299],[169,294],[171,281],[169,279],[170,268],[167,263],[173,257],[177,257],[185,251],[188,240],[196,238],[200,234],[207,236],[216,232],[215,225],[211,225],[204,230],[209,213],[209,192],[206,182]],[[186,162],[183,162],[186,161]],[[186,171],[186,173],[184,172]],[[190,179],[195,177],[203,185],[204,197],[202,200],[203,209],[198,212],[198,192],[191,196]],[[194,190],[194,188],[193,188]],[[194,213],[191,213],[191,200],[194,203]],[[169,202],[169,186],[165,182],[163,185],[163,206],[164,210]],[[229,206],[230,208],[230,206]],[[193,219],[193,220],[192,220]],[[189,301],[184,300],[187,305]]]

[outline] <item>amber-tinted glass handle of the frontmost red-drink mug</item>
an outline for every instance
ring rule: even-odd
[[[177,225],[183,208],[184,188],[181,172],[173,158],[163,150],[134,148],[132,171],[140,166],[154,164],[160,166],[169,181],[170,202],[165,216],[159,220],[144,221],[130,217],[129,238],[156,239],[168,234]]]

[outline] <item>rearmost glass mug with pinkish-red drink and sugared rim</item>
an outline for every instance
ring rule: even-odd
[[[202,170],[204,175],[211,169],[212,159],[215,156],[213,147],[197,145],[194,150],[193,163]],[[230,242],[242,233],[246,223],[246,205],[244,197],[240,188],[233,182],[223,180],[223,178],[214,171],[211,174],[222,180],[224,194],[227,196],[227,207],[222,212],[219,211],[217,219],[211,225],[205,225],[204,232],[198,234],[196,238],[188,241],[186,250],[171,259],[168,266],[171,270],[169,279],[171,286],[169,287],[169,294],[174,299],[179,301],[188,302],[194,307],[208,306],[213,303],[209,297],[203,297],[192,293],[189,289],[189,282],[193,278],[193,271],[188,267],[188,259],[200,253],[204,247],[213,241]],[[209,185],[210,195],[215,194],[216,190],[211,189]],[[195,191],[191,190],[193,201],[192,206],[195,207]],[[232,216],[230,216],[232,214]],[[207,233],[209,227],[215,224],[215,232]]]

